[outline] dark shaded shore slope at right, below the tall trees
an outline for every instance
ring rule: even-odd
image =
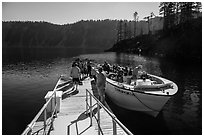
[[[139,53],[176,60],[202,60],[202,18],[180,24],[167,32],[140,35],[113,45],[107,51]]]

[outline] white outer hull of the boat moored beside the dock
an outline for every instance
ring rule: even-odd
[[[122,108],[144,112],[154,117],[159,114],[166,102],[178,90],[176,84],[173,83],[173,89],[169,89],[167,91],[140,92],[120,87],[118,82],[109,78],[106,80],[106,95],[113,103]],[[169,81],[166,80],[164,83],[165,82]],[[170,93],[171,95],[169,95],[167,92],[171,91],[173,93]]]

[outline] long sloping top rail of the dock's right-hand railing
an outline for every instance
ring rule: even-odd
[[[124,131],[126,134],[128,135],[133,135],[129,129],[127,129],[118,119],[117,117],[112,113],[110,112],[88,89],[86,89],[86,91],[91,95],[91,97],[93,97],[97,103],[108,113],[108,115],[112,118],[112,120],[114,122],[116,122]]]

